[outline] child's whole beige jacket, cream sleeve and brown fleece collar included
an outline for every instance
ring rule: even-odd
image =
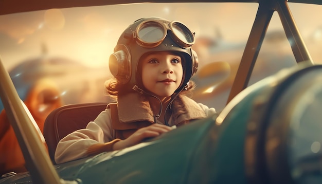
[[[87,157],[87,149],[91,145],[114,142],[116,138],[127,138],[138,128],[154,123],[152,109],[145,96],[132,93],[119,98],[117,105],[119,123],[115,121],[112,123],[114,113],[111,112],[112,109],[106,108],[94,121],[89,122],[86,128],[75,131],[60,140],[55,153],[55,161],[62,163]],[[214,108],[208,108],[206,105],[180,95],[173,101],[172,115],[168,123],[170,126],[185,124],[190,120],[205,118],[215,113]],[[157,121],[157,123],[162,122]],[[105,149],[104,151],[112,150]]]

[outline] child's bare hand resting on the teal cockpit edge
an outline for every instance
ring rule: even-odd
[[[146,138],[157,137],[163,133],[171,131],[172,129],[173,128],[170,126],[157,123],[144,128],[140,128],[127,139],[116,142],[113,145],[113,150],[128,148],[129,146],[140,143],[142,140]]]

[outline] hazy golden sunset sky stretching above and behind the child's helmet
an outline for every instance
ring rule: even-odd
[[[216,39],[221,34],[228,43],[241,43],[251,30],[257,7],[258,4],[251,3],[164,3],[2,15],[0,56],[8,69],[41,56],[42,48],[48,56],[62,56],[91,66],[107,65],[121,32],[133,21],[147,16],[181,21],[196,33],[197,39],[200,36]],[[290,4],[290,8],[303,39],[312,42],[309,38],[321,25],[322,6]],[[281,23],[274,14],[268,31],[280,29]],[[318,52],[309,43],[308,48]]]

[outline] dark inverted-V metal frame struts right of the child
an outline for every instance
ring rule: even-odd
[[[294,1],[295,2],[295,1]],[[300,1],[296,1],[300,2]],[[322,2],[319,2],[322,4]],[[287,0],[262,0],[259,2],[256,18],[249,34],[249,38],[237,70],[237,74],[232,84],[227,103],[230,102],[248,85],[249,78],[252,75],[255,62],[262,42],[264,40],[267,27],[271,21],[274,11],[278,12],[284,32],[287,35],[291,45],[295,60],[297,63],[307,61],[313,64],[310,53],[302,40],[301,34],[297,29]],[[236,80],[238,79],[238,80]]]

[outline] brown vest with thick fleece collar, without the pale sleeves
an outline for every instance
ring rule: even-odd
[[[129,104],[129,102],[131,102]],[[112,115],[113,138],[126,139],[139,128],[154,123],[153,112],[145,96],[129,94],[118,100],[117,104],[110,104]],[[164,107],[165,108],[165,107]],[[121,111],[118,111],[121,109]],[[194,119],[207,117],[206,112],[195,101],[187,96],[180,95],[172,103],[171,124],[180,126]],[[131,115],[131,116],[129,116]],[[161,123],[160,121],[157,121]]]

